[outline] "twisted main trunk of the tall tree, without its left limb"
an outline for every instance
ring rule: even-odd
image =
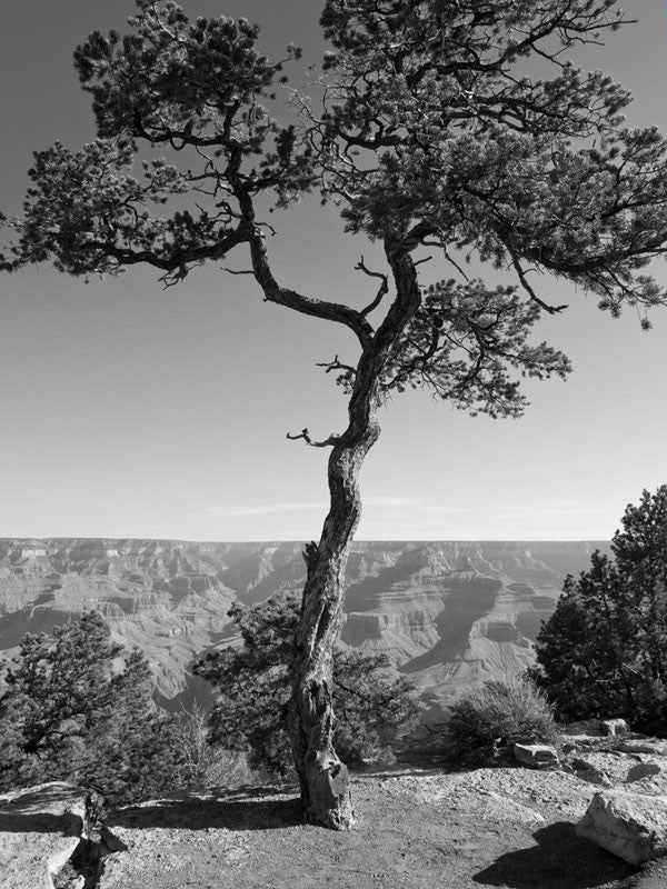
[[[330,508],[319,543],[309,543],[306,586],[297,628],[291,699],[291,743],[307,821],[341,830],[354,825],[349,776],[332,743],[331,661],[345,600],[345,569],[361,516],[359,472],[378,440],[382,373],[392,349],[420,303],[415,264],[405,244],[386,244],[396,299],[357,366],[348,404],[349,424],[332,436]]]

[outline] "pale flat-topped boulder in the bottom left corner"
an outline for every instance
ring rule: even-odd
[[[79,846],[86,793],[53,781],[0,797],[0,889],[53,889]]]

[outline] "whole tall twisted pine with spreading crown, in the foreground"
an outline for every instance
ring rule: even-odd
[[[169,286],[242,249],[265,300],[352,332],[357,354],[325,363],[347,393],[347,427],[321,440],[290,436],[330,449],[330,508],[305,551],[291,705],[310,821],[342,828],[354,818],[332,745],[331,661],[380,408],[425,387],[461,410],[518,417],[521,376],[565,376],[567,358],[529,339],[540,314],[566,308],[537,292],[531,271],[597,294],[613,314],[635,307],[646,327],[645,310],[666,301],[644,272],[667,241],[666,142],[624,127],[629,93],[566,59],[625,23],[615,7],[326,0],[331,50],[317,103],[291,93],[300,118],[280,122],[269,106],[282,62],[258,51],[256,26],[190,22],[171,0],[137,0],[126,36],[94,32],[74,53],[98,140],[37,152],[24,216],[7,221],[17,232],[9,271],[48,260],[69,274],[117,274],[148,263]],[[298,58],[290,47],[283,61]],[[156,148],[179,166],[147,159]],[[378,286],[362,309],[273,273],[263,217],[309,191],[384,251],[382,270],[358,263]],[[457,278],[425,278],[425,249]],[[515,283],[470,279],[461,251]]]

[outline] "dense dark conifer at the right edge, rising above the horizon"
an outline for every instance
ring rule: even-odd
[[[563,719],[625,717],[667,731],[667,486],[629,505],[588,571],[568,577],[537,637],[534,678]]]

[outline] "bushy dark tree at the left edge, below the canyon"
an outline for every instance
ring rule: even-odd
[[[0,696],[2,789],[67,780],[128,801],[172,787],[180,753],[148,661],[112,642],[97,611],[27,633],[13,663]]]

